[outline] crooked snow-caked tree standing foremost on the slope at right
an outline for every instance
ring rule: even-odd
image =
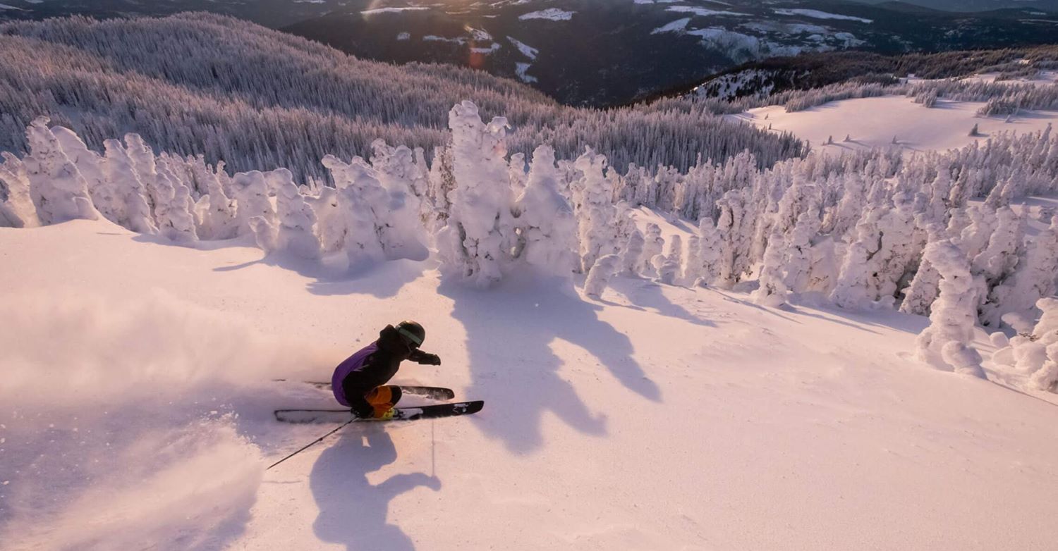
[[[983,379],[981,354],[970,346],[977,325],[977,291],[969,261],[950,239],[930,243],[925,259],[941,274],[941,283],[930,325],[915,342],[917,357]]]

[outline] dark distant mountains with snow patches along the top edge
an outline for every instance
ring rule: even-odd
[[[805,52],[899,54],[1058,40],[1058,15],[1035,7],[952,14],[912,3],[843,0],[3,0],[0,5],[11,6],[0,10],[0,18],[222,13],[357,57],[481,69],[559,102],[592,107],[632,103],[741,63]]]

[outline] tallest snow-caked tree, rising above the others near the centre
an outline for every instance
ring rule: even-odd
[[[449,111],[455,189],[449,194],[448,225],[437,236],[441,268],[478,287],[503,278],[515,240],[511,187],[504,157],[507,120],[488,125],[477,106],[462,102]]]

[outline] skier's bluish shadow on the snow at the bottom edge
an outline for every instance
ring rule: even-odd
[[[320,508],[313,524],[324,541],[348,551],[385,549],[411,551],[412,538],[388,522],[389,501],[422,485],[440,490],[441,481],[425,473],[394,475],[371,484],[367,474],[397,460],[397,448],[381,426],[355,426],[324,451],[312,465],[309,485]]]

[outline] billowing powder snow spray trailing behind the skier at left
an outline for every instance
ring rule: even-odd
[[[269,374],[314,366],[311,349],[165,294],[52,289],[0,318],[18,320],[0,332],[0,539],[215,549],[239,533],[263,470],[240,433],[271,411]]]

